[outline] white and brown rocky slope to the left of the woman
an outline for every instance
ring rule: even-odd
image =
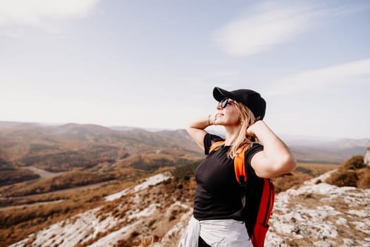
[[[11,246],[147,246],[157,242],[190,212],[189,188],[173,187],[171,174],[142,179],[106,203],[52,224]]]

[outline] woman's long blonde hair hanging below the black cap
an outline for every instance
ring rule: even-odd
[[[241,127],[238,137],[235,139],[233,145],[228,151],[228,157],[230,157],[231,159],[238,155],[238,152],[240,152],[240,148],[244,147],[245,145],[257,143],[257,138],[253,138],[251,135],[247,135],[247,128],[249,128],[249,126],[251,126],[256,121],[254,114],[248,107],[240,102],[235,102],[235,106],[238,109]]]

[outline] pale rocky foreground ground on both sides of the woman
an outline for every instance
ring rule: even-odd
[[[327,176],[276,195],[265,246],[370,247],[370,189],[331,186]],[[146,179],[12,246],[176,246],[192,214],[192,189],[173,188],[168,178]]]

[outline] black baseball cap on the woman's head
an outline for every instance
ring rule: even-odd
[[[249,89],[238,89],[234,91],[227,91],[222,88],[214,88],[214,98],[218,102],[228,98],[244,104],[254,114],[257,120],[264,119],[266,112],[266,101],[259,95],[258,92]]]

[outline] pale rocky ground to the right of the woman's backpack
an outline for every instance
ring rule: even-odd
[[[333,172],[276,195],[265,246],[370,246],[370,189],[323,183]]]

